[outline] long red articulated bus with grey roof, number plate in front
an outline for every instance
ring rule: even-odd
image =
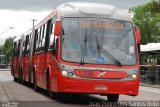
[[[137,96],[140,31],[112,5],[70,2],[15,39],[14,80],[58,93]]]

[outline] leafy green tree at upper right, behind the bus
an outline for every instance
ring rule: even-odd
[[[129,10],[141,30],[141,44],[160,42],[160,0],[151,1]]]

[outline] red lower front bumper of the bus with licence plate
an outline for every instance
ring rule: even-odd
[[[90,80],[62,77],[58,80],[58,92],[86,94],[126,94],[137,96],[139,78],[135,80]]]

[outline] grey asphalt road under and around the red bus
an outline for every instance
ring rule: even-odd
[[[35,92],[30,86],[14,82],[10,70],[0,69],[0,107],[108,107],[106,99],[106,96],[99,95],[65,94],[52,100],[44,90]],[[123,102],[127,106],[135,106],[139,101],[143,105],[154,103],[160,106],[160,89],[140,86],[139,96],[120,95],[119,98],[119,104]]]

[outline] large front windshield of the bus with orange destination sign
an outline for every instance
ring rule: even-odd
[[[133,26],[130,22],[98,18],[62,20],[63,61],[110,65],[136,64]]]

